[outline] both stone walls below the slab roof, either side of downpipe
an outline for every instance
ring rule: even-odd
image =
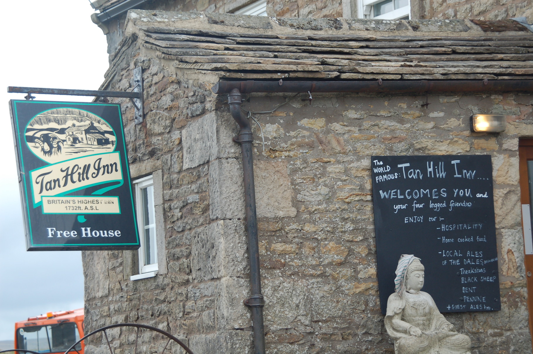
[[[142,124],[122,102],[132,178],[161,171],[166,269],[130,281],[135,251],[85,251],[85,331],[135,322],[182,338],[196,354],[251,351],[240,146],[227,96],[213,72],[124,40],[104,89],[144,78]],[[142,56],[141,56],[142,55]],[[256,114],[255,177],[267,352],[392,353],[379,309],[371,155],[489,154],[502,310],[446,317],[473,340],[473,353],[531,349],[523,269],[518,138],[533,137],[533,98],[477,95],[251,95]],[[429,108],[422,103],[427,100]],[[471,133],[473,113],[514,116],[502,134]],[[421,255],[423,261],[423,255]],[[117,354],[134,332],[110,333]],[[140,336],[140,351],[166,341]],[[87,354],[108,351],[87,341]],[[180,352],[177,349],[173,353]]]

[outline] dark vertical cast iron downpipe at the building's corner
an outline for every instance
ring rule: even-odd
[[[257,240],[257,215],[255,208],[254,159],[252,156],[252,127],[240,109],[242,95],[238,89],[228,94],[231,116],[240,127],[239,135],[233,141],[240,144],[243,152],[244,202],[246,209],[246,230],[248,233],[248,255],[250,262],[250,293],[244,304],[252,311],[254,330],[254,354],[264,354],[265,337],[263,325],[263,295],[261,294],[261,271],[259,267],[259,241]]]

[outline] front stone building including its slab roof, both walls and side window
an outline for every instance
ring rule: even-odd
[[[140,218],[149,220],[140,228],[151,237],[140,252],[83,252],[87,333],[135,322],[179,336],[197,354],[252,352],[243,305],[250,285],[242,156],[232,141],[239,127],[226,83],[240,88],[243,108],[257,120],[268,353],[393,352],[377,293],[370,156],[432,154],[489,154],[494,169],[502,310],[446,317],[472,338],[473,353],[530,352],[518,149],[533,137],[533,97],[498,86],[533,79],[533,34],[526,28],[511,20],[132,10],[123,33],[101,89],[132,90],[133,70],[142,68],[143,122],[134,123],[131,102],[114,102],[123,107],[138,203],[152,195],[146,210],[138,204],[151,213]],[[490,89],[246,93],[246,81],[280,79],[280,87],[461,80]],[[503,133],[471,133],[475,113],[512,119]],[[133,345],[125,332],[113,332],[110,341],[117,353]],[[150,343],[143,336],[140,349]],[[160,351],[165,342],[155,345]],[[86,350],[108,349],[97,338]]]

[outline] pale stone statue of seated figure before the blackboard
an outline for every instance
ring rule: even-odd
[[[470,338],[458,334],[439,312],[424,286],[424,266],[413,254],[402,254],[387,301],[385,328],[395,354],[470,354]]]

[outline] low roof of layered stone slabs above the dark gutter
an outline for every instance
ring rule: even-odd
[[[222,78],[533,79],[533,33],[512,20],[268,18],[132,10],[127,30],[176,68]]]

